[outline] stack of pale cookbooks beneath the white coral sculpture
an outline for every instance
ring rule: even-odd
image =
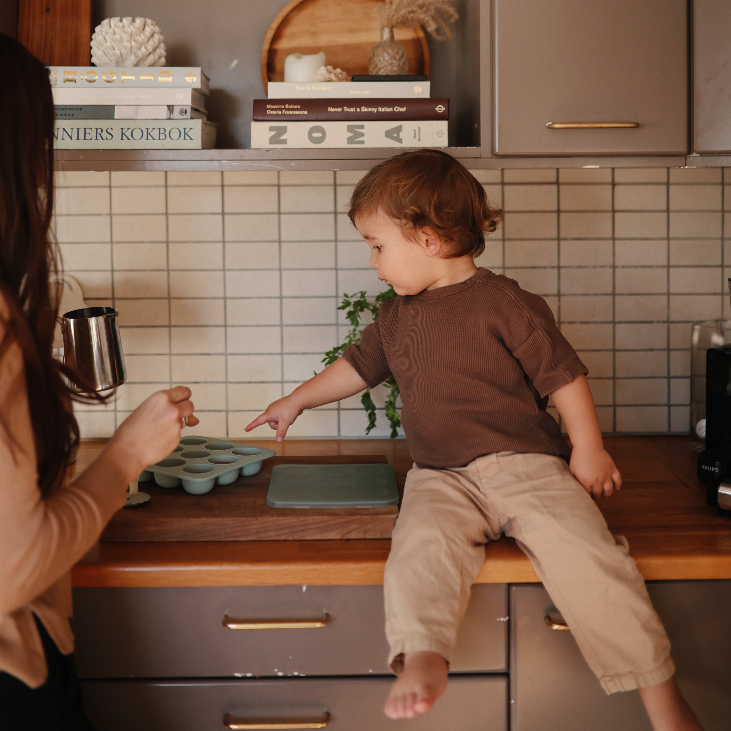
[[[197,67],[48,67],[59,150],[200,150],[216,145]]]

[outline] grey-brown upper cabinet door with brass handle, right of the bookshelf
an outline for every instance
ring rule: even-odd
[[[687,12],[686,0],[493,0],[494,154],[685,154]]]

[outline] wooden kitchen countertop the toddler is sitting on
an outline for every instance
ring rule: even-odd
[[[280,455],[382,454],[400,486],[412,465],[403,439],[262,442]],[[705,504],[686,437],[612,436],[605,446],[624,485],[599,507],[629,540],[646,580],[731,579],[731,520]],[[104,442],[83,442],[71,475]],[[144,508],[140,508],[144,510]],[[74,586],[276,586],[379,584],[390,541],[260,541],[96,544],[72,569]],[[478,583],[537,581],[512,539],[490,543]]]

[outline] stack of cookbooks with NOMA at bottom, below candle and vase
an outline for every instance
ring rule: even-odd
[[[426,77],[270,81],[254,99],[252,148],[446,147],[449,99]]]

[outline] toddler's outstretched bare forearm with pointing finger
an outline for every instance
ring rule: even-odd
[[[295,388],[292,393],[272,401],[267,410],[257,416],[244,431],[268,423],[276,429],[276,440],[281,442],[292,422],[305,410],[360,393],[368,384],[355,372],[347,360],[338,358],[324,371]]]

